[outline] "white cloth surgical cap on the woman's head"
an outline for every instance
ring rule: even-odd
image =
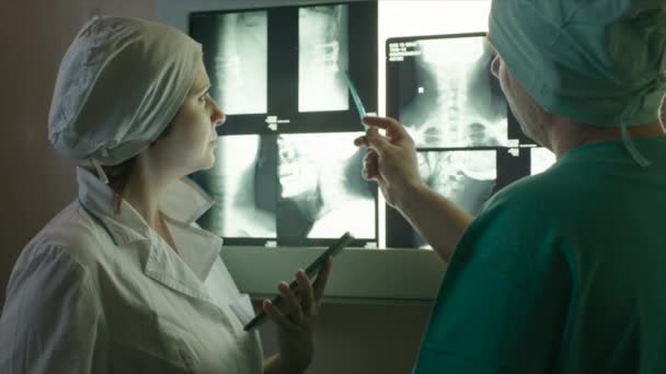
[[[200,45],[173,27],[91,20],[62,58],[48,138],[61,154],[95,166],[131,159],[173,119],[200,61]]]

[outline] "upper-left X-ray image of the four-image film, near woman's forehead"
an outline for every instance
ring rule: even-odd
[[[215,21],[213,45],[206,46],[214,54],[208,65],[213,97],[228,115],[266,113],[266,11],[219,14]]]

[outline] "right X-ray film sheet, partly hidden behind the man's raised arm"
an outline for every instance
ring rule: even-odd
[[[491,73],[493,57],[484,33],[386,42],[387,114],[414,139],[423,182],[472,215],[533,174],[530,166],[549,165],[510,115]],[[386,225],[387,246],[428,248],[390,208]]]

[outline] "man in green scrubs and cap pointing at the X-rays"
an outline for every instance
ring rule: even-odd
[[[356,140],[450,261],[414,373],[666,373],[666,1],[494,0],[489,38],[552,167],[472,219],[421,183],[402,125]]]

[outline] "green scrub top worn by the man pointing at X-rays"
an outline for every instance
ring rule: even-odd
[[[461,238],[414,373],[666,373],[666,139],[582,145]]]

